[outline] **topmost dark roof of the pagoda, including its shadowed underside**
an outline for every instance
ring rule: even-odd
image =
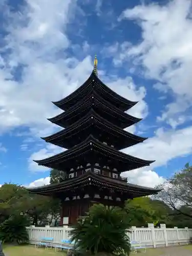
[[[86,96],[87,92],[90,90],[90,87],[96,87],[96,90],[100,94],[102,94],[106,99],[108,99],[108,101],[116,105],[116,107],[122,111],[132,108],[132,106],[138,102],[127,100],[126,98],[115,93],[95,75],[94,71],[92,71],[90,77],[77,90],[59,101],[53,101],[53,103],[62,110],[68,110],[80,98]]]

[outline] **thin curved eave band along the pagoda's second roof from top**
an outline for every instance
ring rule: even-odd
[[[125,117],[127,120],[131,120],[134,123],[137,123],[139,121],[142,120],[142,118],[138,118],[138,117],[134,117],[132,115],[129,115],[127,113],[124,113],[123,111],[117,109],[115,106],[113,106],[110,102],[104,100],[103,98],[101,98],[96,92],[91,92],[91,94],[89,95],[89,97],[87,98],[84,97],[80,102],[77,102],[74,106],[72,106],[70,109],[68,109],[67,111],[55,116],[55,117],[51,117],[48,118],[48,120],[52,123],[57,122],[63,118],[65,118],[68,115],[71,115],[72,112],[77,111],[78,109],[80,110],[80,108],[82,108],[83,103],[88,102],[88,100],[91,100],[92,97],[95,97],[96,100],[98,100],[101,104],[104,104],[106,108],[111,109],[112,112],[116,112],[117,114]]]

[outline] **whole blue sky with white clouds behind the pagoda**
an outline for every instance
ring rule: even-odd
[[[191,1],[2,0],[0,37],[0,184],[49,183],[39,160],[62,151],[40,136],[61,111],[51,101],[99,78],[139,103],[143,120],[127,131],[149,137],[124,152],[156,160],[125,173],[154,186],[191,162]]]

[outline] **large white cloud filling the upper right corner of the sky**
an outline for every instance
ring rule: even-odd
[[[174,101],[165,106],[161,120],[174,128],[188,120],[182,118],[191,108],[192,65],[192,21],[190,0],[169,1],[164,6],[140,5],[126,9],[120,19],[137,20],[142,29],[142,40],[138,45],[125,46],[116,62],[134,58],[141,63],[145,76],[157,79],[155,88],[170,92]]]

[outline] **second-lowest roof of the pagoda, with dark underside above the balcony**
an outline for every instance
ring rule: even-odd
[[[70,150],[46,159],[33,161],[38,163],[38,165],[61,170],[62,166],[73,168],[74,164],[81,165],[82,161],[84,161],[83,163],[88,163],[95,159],[102,159],[102,162],[105,162],[106,165],[111,164],[114,168],[121,167],[122,172],[144,167],[154,162],[119,152],[113,147],[98,141],[92,135]]]

